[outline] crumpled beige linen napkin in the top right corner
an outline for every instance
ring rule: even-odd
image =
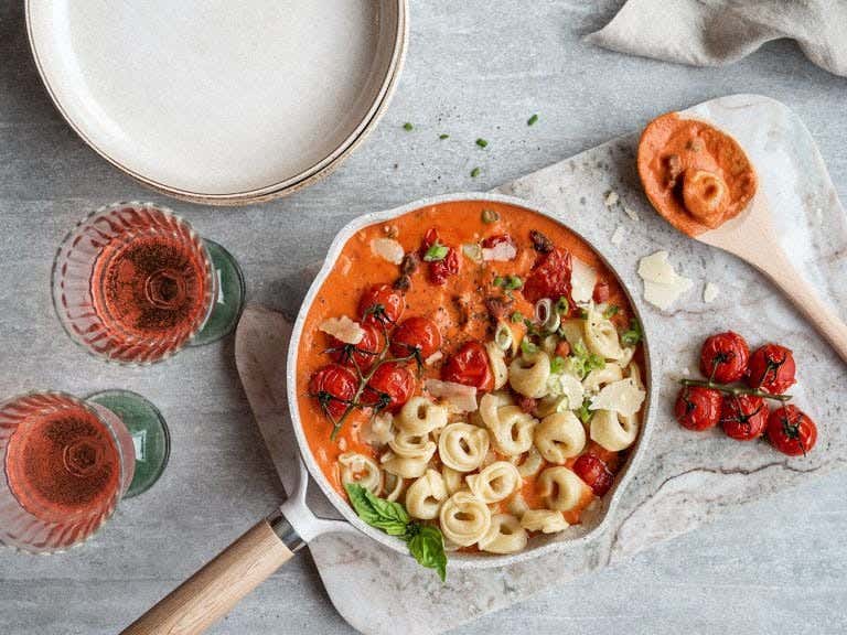
[[[737,62],[770,40],[847,76],[847,0],[629,0],[587,42],[695,66]]]

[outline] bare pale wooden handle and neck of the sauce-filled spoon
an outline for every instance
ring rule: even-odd
[[[847,324],[821,300],[785,256],[761,192],[744,212],[694,238],[729,251],[764,273],[847,363]]]

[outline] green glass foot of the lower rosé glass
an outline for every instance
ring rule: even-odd
[[[136,472],[124,495],[131,498],[147,492],[164,472],[171,454],[171,435],[159,409],[129,390],[104,390],[86,398],[117,415],[132,435]]]

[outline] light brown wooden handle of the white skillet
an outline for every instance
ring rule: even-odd
[[[131,624],[122,635],[202,633],[291,556],[293,552],[268,520],[261,520]]]

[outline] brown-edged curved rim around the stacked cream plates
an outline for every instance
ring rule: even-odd
[[[403,71],[403,66],[408,52],[408,0],[389,0],[389,2],[396,7],[397,19],[392,39],[392,56],[388,62],[388,66],[386,67],[384,77],[379,85],[379,89],[377,90],[367,110],[363,115],[360,122],[356,125],[355,129],[347,137],[345,137],[341,143],[339,143],[320,161],[283,181],[269,183],[261,187],[255,187],[251,190],[245,190],[240,192],[226,192],[223,194],[194,192],[182,187],[170,186],[149,176],[144,176],[143,174],[128,168],[117,159],[110,157],[104,149],[99,148],[73,120],[73,118],[63,107],[62,101],[58,99],[53,86],[47,80],[42,60],[39,56],[35,36],[33,34],[32,4],[34,1],[35,0],[24,0],[24,20],[26,22],[26,39],[30,44],[30,52],[32,53],[32,57],[35,62],[35,69],[39,73],[42,85],[46,89],[53,106],[62,116],[65,123],[71,127],[71,129],[83,140],[83,142],[88,146],[88,148],[94,150],[96,154],[105,159],[114,168],[117,168],[121,173],[130,176],[136,182],[156,192],[171,196],[173,198],[186,201],[189,203],[217,206],[261,203],[298,192],[331,174],[339,165],[341,165],[341,163],[343,163],[344,160],[346,160],[347,157],[350,157],[351,152],[355,150],[371,132],[373,132],[374,128],[382,119],[396,90],[397,82]]]

